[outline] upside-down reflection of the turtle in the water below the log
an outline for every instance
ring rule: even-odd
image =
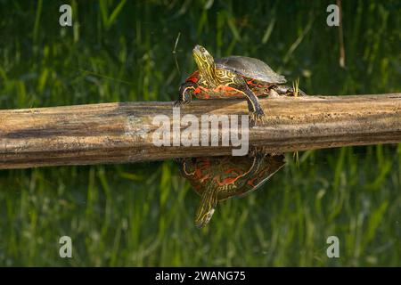
[[[179,159],[181,173],[201,196],[195,224],[209,223],[217,201],[256,190],[284,165],[282,155],[251,151],[244,157],[204,157]]]

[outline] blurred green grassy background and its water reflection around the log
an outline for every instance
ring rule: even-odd
[[[334,2],[0,0],[0,108],[176,100],[196,44],[266,61],[307,94],[400,92],[400,1],[343,1],[345,69]],[[0,265],[401,265],[401,144],[287,159],[202,230],[173,161],[0,170]]]

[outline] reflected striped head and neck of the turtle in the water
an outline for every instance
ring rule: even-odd
[[[201,204],[196,211],[195,225],[198,228],[204,227],[209,223],[215,207],[217,205],[217,191],[213,187],[209,187],[201,194]]]

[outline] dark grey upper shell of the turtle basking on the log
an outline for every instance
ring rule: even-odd
[[[274,72],[265,62],[247,56],[229,56],[215,60],[219,69],[229,69],[243,77],[250,77],[266,83],[286,83],[282,75]]]

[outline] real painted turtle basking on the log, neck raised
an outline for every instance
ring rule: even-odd
[[[201,45],[196,45],[193,58],[198,65],[180,87],[176,106],[189,103],[192,95],[198,99],[230,98],[245,96],[250,111],[250,121],[256,123],[265,115],[258,96],[269,94],[294,94],[287,80],[278,75],[265,62],[246,56],[229,56],[214,59]],[[299,90],[300,95],[305,95]]]

